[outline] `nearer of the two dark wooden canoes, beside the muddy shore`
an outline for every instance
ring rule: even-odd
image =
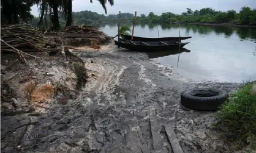
[[[171,49],[183,48],[187,43],[179,43],[177,41],[129,41],[120,39],[115,40],[115,44],[121,48],[126,48],[134,51],[168,51]]]

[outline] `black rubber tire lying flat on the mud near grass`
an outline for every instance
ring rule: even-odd
[[[202,92],[214,91],[217,96],[199,97],[193,96]],[[228,99],[228,93],[214,88],[194,88],[181,93],[181,104],[192,110],[218,110]]]

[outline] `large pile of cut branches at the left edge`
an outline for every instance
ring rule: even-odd
[[[1,52],[16,52],[25,62],[24,55],[27,52],[53,51],[56,43],[48,40],[40,31],[34,29],[29,24],[15,24],[1,26]]]

